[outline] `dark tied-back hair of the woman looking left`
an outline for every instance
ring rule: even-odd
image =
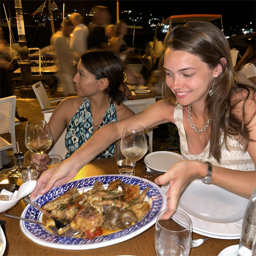
[[[97,80],[107,78],[108,87],[104,90],[112,102],[120,105],[123,92],[119,90],[123,81],[123,64],[116,53],[105,49],[90,49],[81,55],[81,62]]]

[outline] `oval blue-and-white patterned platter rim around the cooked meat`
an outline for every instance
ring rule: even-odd
[[[94,239],[84,239],[58,237],[48,232],[38,224],[20,221],[22,232],[26,235],[26,237],[28,237],[37,244],[66,250],[95,249],[121,243],[133,237],[136,237],[137,235],[149,229],[149,227],[153,226],[156,223],[157,214],[164,210],[166,207],[166,196],[164,192],[160,189],[159,186],[151,181],[148,181],[147,179],[127,175],[101,175],[88,177],[78,179],[76,181],[70,181],[65,185],[52,188],[49,192],[44,195],[39,195],[33,201],[42,207],[42,205],[54,200],[57,196],[64,194],[70,188],[77,187],[79,192],[82,193],[83,190],[86,191],[91,189],[96,181],[104,182],[104,187],[107,188],[108,184],[116,179],[121,179],[121,181],[128,184],[139,185],[140,192],[149,187],[145,200],[148,201],[151,208],[142,220],[132,225],[131,227],[112,234],[96,237]],[[27,205],[21,217],[29,218],[32,220],[41,220],[42,213],[32,207],[32,205]]]

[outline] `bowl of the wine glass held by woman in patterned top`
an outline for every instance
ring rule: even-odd
[[[25,144],[30,151],[39,156],[42,156],[51,147],[52,134],[45,120],[27,122]]]

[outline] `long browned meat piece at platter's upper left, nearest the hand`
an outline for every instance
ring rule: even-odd
[[[43,209],[46,211],[52,211],[56,209],[60,204],[68,204],[71,199],[79,196],[79,191],[76,187],[71,188],[68,192],[63,195],[58,196],[55,200],[43,205]]]

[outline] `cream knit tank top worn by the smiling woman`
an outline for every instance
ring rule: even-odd
[[[178,127],[181,154],[185,160],[197,160],[200,162],[211,162],[212,165],[220,166],[228,169],[239,171],[255,171],[255,165],[249,153],[244,152],[243,146],[232,136],[227,137],[228,149],[224,145],[221,147],[221,161],[218,163],[213,156],[209,157],[210,141],[208,142],[204,151],[199,155],[191,155],[188,152],[187,138],[183,126],[183,107],[179,104],[174,109],[174,123]],[[221,141],[224,135],[221,134]]]

